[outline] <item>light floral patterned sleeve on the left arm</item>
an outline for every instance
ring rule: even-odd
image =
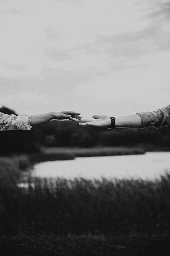
[[[0,131],[31,130],[30,115],[7,115],[0,112]]]

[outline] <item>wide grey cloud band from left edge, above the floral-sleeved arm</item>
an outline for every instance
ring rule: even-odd
[[[42,68],[40,76],[0,77],[1,92],[11,90],[37,91],[39,94],[73,94],[74,86],[95,80],[99,76],[107,76],[107,72],[99,69],[63,70]]]

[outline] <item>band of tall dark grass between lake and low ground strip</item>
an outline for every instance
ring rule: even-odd
[[[0,187],[0,234],[170,231],[170,174],[160,179],[35,179]]]

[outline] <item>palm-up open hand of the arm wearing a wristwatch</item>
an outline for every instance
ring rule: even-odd
[[[111,124],[110,117],[107,115],[93,115],[93,118],[96,120],[92,122],[79,123],[79,125],[88,126],[88,127],[105,128],[105,127],[109,127]]]

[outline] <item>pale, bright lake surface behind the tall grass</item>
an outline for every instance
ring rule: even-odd
[[[148,152],[143,155],[81,157],[75,160],[41,162],[31,176],[74,179],[142,178],[154,179],[170,172],[170,152]]]

